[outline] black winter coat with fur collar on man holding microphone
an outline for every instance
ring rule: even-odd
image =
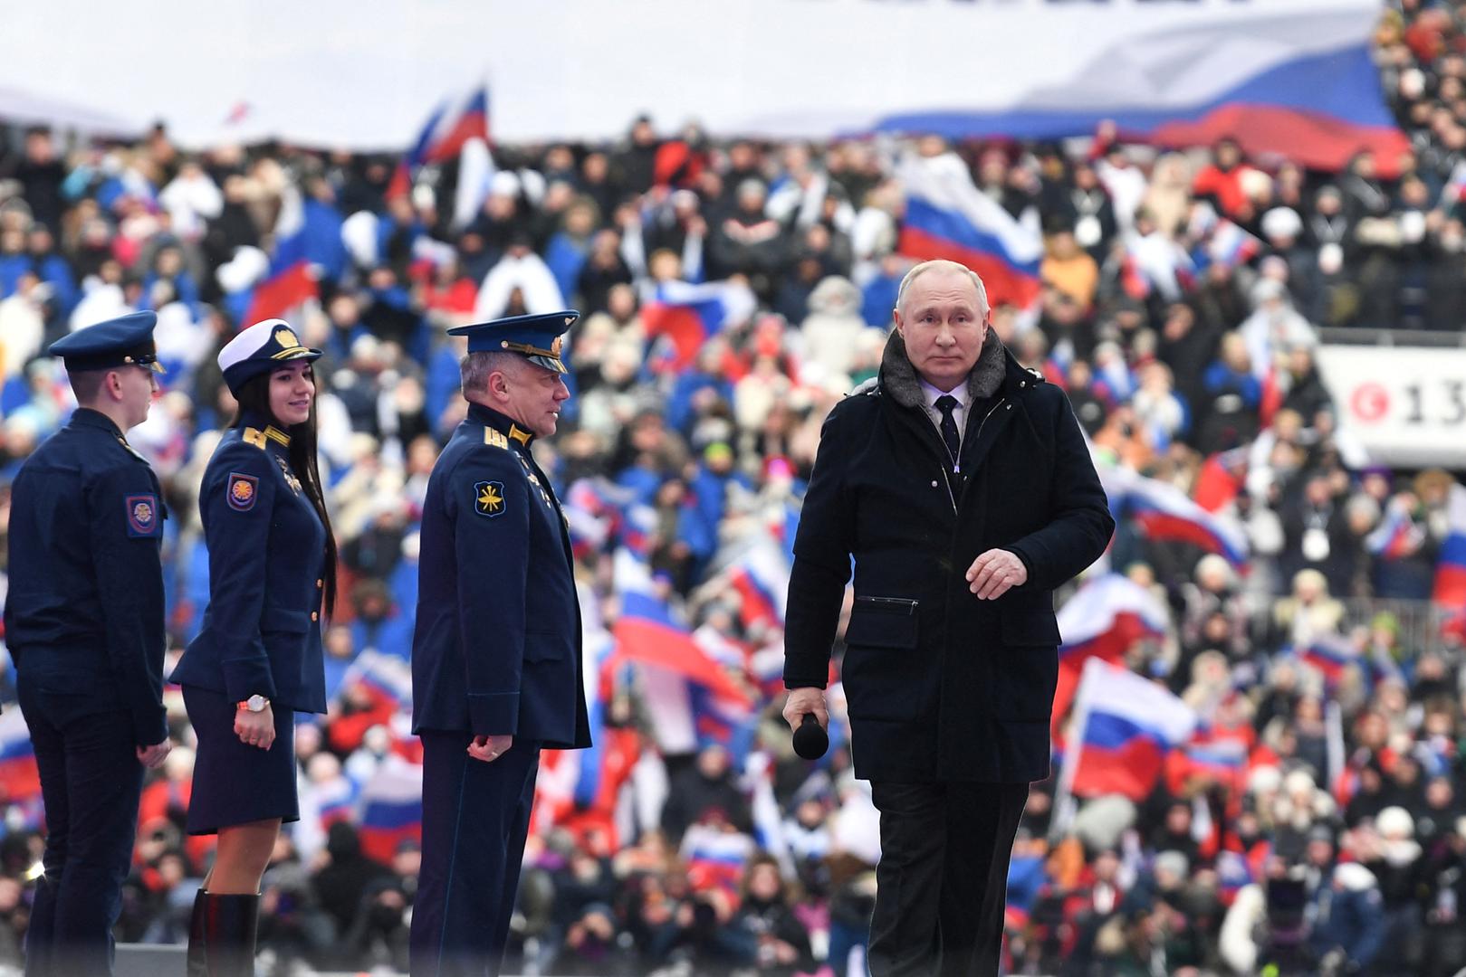
[[[844,693],[855,773],[894,782],[1048,776],[1053,592],[1114,530],[1064,393],[994,334],[968,379],[951,475],[900,335],[825,420],[789,582],[784,684],[824,687],[855,558]],[[1028,582],[978,601],[966,571],[1009,549]]]

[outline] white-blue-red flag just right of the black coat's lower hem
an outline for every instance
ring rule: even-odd
[[[1079,683],[1079,735],[1066,770],[1076,797],[1149,797],[1167,753],[1190,740],[1196,713],[1161,686],[1089,659]]]

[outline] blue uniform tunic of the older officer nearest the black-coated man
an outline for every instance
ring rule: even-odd
[[[422,511],[412,725],[588,747],[570,538],[531,435],[469,404]]]

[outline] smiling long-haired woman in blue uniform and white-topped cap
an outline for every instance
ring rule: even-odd
[[[299,820],[295,713],[325,712],[321,614],[336,543],[315,454],[320,350],[283,319],[218,353],[239,413],[204,472],[208,609],[172,680],[198,735],[192,835],[218,835],[194,904],[191,977],[252,977],[259,879]]]

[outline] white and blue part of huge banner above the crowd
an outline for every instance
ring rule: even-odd
[[[65,105],[185,145],[405,148],[488,82],[498,139],[1193,125],[1217,104],[1378,127],[1380,0],[0,0],[0,117]],[[1372,86],[1372,94],[1371,94]],[[954,119],[957,122],[954,122]],[[905,123],[903,123],[905,120]],[[1229,125],[1237,120],[1231,119]],[[1217,123],[1223,125],[1223,123]],[[111,127],[116,127],[114,125]]]

